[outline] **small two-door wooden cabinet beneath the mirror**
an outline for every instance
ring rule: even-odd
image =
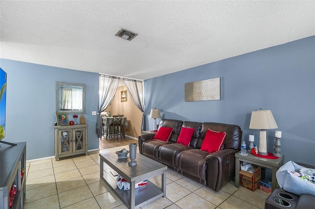
[[[55,157],[67,157],[78,154],[88,155],[88,124],[73,126],[54,126]]]

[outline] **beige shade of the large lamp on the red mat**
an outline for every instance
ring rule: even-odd
[[[250,129],[266,130],[278,129],[271,110],[252,111]]]

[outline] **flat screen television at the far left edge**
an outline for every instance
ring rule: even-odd
[[[9,142],[4,142],[2,139],[5,136],[5,105],[6,105],[6,73],[0,68],[0,143],[16,145]]]

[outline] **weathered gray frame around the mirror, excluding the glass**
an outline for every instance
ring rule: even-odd
[[[62,86],[82,87],[82,110],[60,110],[60,89]],[[85,84],[56,81],[56,112],[66,112],[68,114],[85,114]]]

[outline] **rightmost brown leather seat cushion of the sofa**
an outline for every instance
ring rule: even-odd
[[[178,154],[176,167],[180,171],[184,171],[192,176],[206,181],[206,157],[208,155],[208,152],[199,149],[182,151]]]

